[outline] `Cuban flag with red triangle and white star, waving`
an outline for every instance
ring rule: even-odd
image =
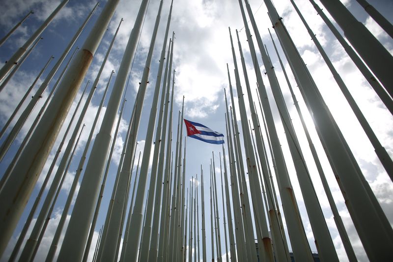
[[[190,120],[184,119],[184,123],[187,128],[187,136],[210,144],[224,144],[223,134],[215,132],[205,125],[192,122]]]

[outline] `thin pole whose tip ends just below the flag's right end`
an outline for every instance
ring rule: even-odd
[[[226,116],[225,116],[226,120]],[[228,173],[226,170],[226,159],[225,159],[225,149],[223,145],[223,156],[224,156],[224,180],[225,180],[225,205],[226,205],[226,216],[227,216],[227,221],[228,221],[228,235],[229,235],[229,251],[230,251],[230,260],[231,262],[236,262],[236,248],[235,248],[235,237],[234,237],[234,231],[233,231],[233,224],[232,224],[232,213],[231,213],[231,204],[230,204],[230,198],[229,198],[229,188],[228,188]],[[221,165],[221,158],[220,158],[220,165]],[[223,189],[223,175],[221,175],[221,190],[224,192]],[[224,193],[223,193],[223,205],[224,205]],[[225,214],[224,214],[225,217]],[[225,233],[226,235],[226,233]],[[229,261],[227,259],[227,261]]]

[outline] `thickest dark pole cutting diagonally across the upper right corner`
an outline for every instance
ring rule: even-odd
[[[321,3],[343,30],[349,43],[393,97],[393,78],[390,70],[393,67],[393,56],[390,52],[339,0],[321,0]]]

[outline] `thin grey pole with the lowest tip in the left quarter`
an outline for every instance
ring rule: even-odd
[[[62,177],[61,177],[60,184],[59,184],[58,187],[57,187],[55,197],[53,198],[51,207],[49,208],[48,215],[47,215],[47,217],[46,217],[46,219],[45,219],[45,222],[44,222],[44,224],[43,224],[43,226],[42,226],[41,232],[40,232],[40,234],[39,234],[39,236],[38,236],[38,238],[37,238],[37,243],[36,243],[35,246],[34,246],[34,250],[33,250],[32,254],[31,254],[31,257],[30,257],[30,261],[33,261],[33,260],[34,260],[35,255],[37,254],[38,248],[39,248],[39,246],[40,246],[40,244],[41,244],[41,240],[42,240],[42,238],[43,238],[43,236],[44,236],[44,233],[45,233],[45,231],[46,231],[46,228],[48,227],[49,221],[51,220],[51,215],[52,215],[53,209],[55,208],[55,204],[56,204],[56,201],[57,201],[58,194],[60,193],[61,187],[63,186],[63,183],[64,183],[65,177],[66,177],[66,175],[67,175],[68,169],[69,169],[69,167],[70,167],[70,165],[71,165],[72,158],[74,157],[75,150],[77,149],[77,146],[78,146],[78,143],[79,143],[79,139],[81,138],[82,131],[84,130],[84,126],[85,126],[85,125],[83,124],[83,126],[82,126],[82,128],[81,128],[81,131],[80,131],[80,133],[79,133],[78,139],[77,139],[77,141],[75,142],[74,149],[72,149],[70,158],[68,159],[67,166],[66,166],[66,168],[64,169],[63,175],[62,175]],[[75,179],[75,176],[74,176],[74,179]],[[72,188],[71,188],[71,190],[72,190]],[[67,203],[66,203],[66,205],[67,205]],[[68,207],[69,207],[69,206],[68,206]],[[68,207],[64,206],[64,210],[68,209]],[[63,211],[64,211],[64,210],[63,210]],[[60,218],[60,219],[61,219],[61,218]],[[65,221],[65,218],[64,218],[64,221]],[[61,221],[60,221],[60,222],[61,222]],[[63,222],[63,223],[64,223],[64,222]],[[34,225],[34,226],[35,226],[35,225]],[[22,253],[22,254],[23,254],[23,253]],[[22,255],[21,255],[21,257],[22,257]],[[21,258],[19,258],[19,261],[24,262],[24,260],[22,260]]]

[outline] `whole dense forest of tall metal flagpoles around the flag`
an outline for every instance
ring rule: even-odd
[[[365,76],[370,86],[381,98],[386,108],[392,113],[392,76],[389,71],[389,68],[393,67],[392,56],[361,23],[356,21],[338,0],[321,0],[321,2],[344,31],[352,47],[329,21],[322,9],[313,0],[310,1],[329,29],[335,34],[339,43],[343,45],[349,57],[353,59],[356,66]],[[365,0],[358,1],[362,6],[365,6],[373,18],[375,17],[377,22],[379,21],[378,23],[380,23],[383,29],[388,33],[392,32],[392,25],[385,21],[383,17],[380,17],[375,9],[370,9]],[[0,79],[2,81],[0,90],[7,85],[24,59],[28,57],[29,53],[41,39],[40,34],[42,31],[67,2],[68,0],[62,1],[43,25],[33,33],[27,42],[9,59],[7,64],[0,69]],[[392,253],[390,250],[393,246],[393,230],[386,214],[378,203],[370,185],[365,180],[359,164],[343,138],[322,95],[319,93],[312,75],[295,47],[291,36],[285,29],[282,18],[277,13],[272,1],[265,0],[264,2],[269,11],[273,29],[279,39],[280,45],[277,46],[281,46],[295,77],[296,84],[312,116],[315,129],[328,156],[333,173],[337,178],[337,183],[367,257],[371,261],[391,260]],[[323,47],[318,42],[315,34],[309,28],[295,2],[291,0],[291,3],[308,30],[322,58],[331,70],[338,87],[343,92],[351,109],[363,127],[365,134],[375,149],[376,155],[393,180],[392,158],[377,139],[365,116],[363,116],[351,93],[337,73],[330,58],[323,50]],[[0,159],[2,160],[10,146],[14,143],[15,138],[34,107],[42,98],[43,92],[49,86],[57,70],[68,56],[69,58],[60,77],[58,77],[52,87],[49,96],[30,127],[25,140],[20,145],[12,162],[1,178],[1,255],[4,254],[4,250],[22,216],[26,203],[36,185],[38,176],[55,144],[60,128],[64,124],[65,117],[84,80],[85,74],[112,19],[117,4],[118,0],[108,1],[82,47],[75,47],[73,49],[76,40],[97,9],[98,3],[94,6],[83,25],[69,42],[63,54],[58,58],[56,65],[51,69],[46,79],[32,96],[28,106],[23,111],[21,110],[21,106],[27,99],[28,94],[43,72],[48,68],[53,59],[52,56],[46,62],[31,87],[28,88],[15,112],[1,130],[0,136],[4,136],[5,138],[0,148]],[[115,183],[112,188],[112,197],[107,207],[105,223],[100,229],[97,243],[92,243],[103,192],[109,175],[112,153],[126,103],[124,97],[127,88],[127,78],[129,77],[133,58],[139,43],[148,5],[148,0],[141,1],[134,27],[130,33],[117,76],[113,83],[112,92],[108,93],[110,94],[109,101],[101,125],[99,126],[99,132],[93,138],[101,109],[104,106],[108,87],[111,85],[112,76],[114,75],[113,71],[102,94],[98,112],[90,128],[88,140],[84,146],[82,157],[79,160],[78,169],[46,261],[53,261],[56,257],[56,252],[59,252],[57,261],[87,261],[91,247],[94,247],[93,261],[191,262],[193,259],[194,261],[207,261],[207,259],[210,259],[210,256],[208,258],[207,254],[207,250],[209,249],[213,261],[215,259],[218,261],[257,261],[258,259],[261,261],[291,261],[289,246],[292,249],[296,261],[313,261],[309,240],[297,205],[298,197],[295,196],[291,178],[287,170],[286,160],[281,150],[281,142],[276,129],[277,123],[275,123],[272,113],[272,107],[274,106],[278,108],[284,127],[285,139],[294,163],[295,173],[299,181],[318,255],[324,261],[338,261],[337,251],[311,180],[311,174],[308,168],[309,163],[306,162],[297,137],[298,131],[295,131],[292,125],[291,116],[286,107],[286,101],[281,92],[271,56],[268,54],[266,46],[262,41],[250,4],[247,0],[239,0],[239,7],[257,81],[256,94],[258,101],[253,98],[254,92],[252,84],[249,81],[239,32],[236,30],[236,39],[239,48],[239,52],[236,52],[232,31],[229,29],[233,66],[232,63],[227,64],[229,97],[227,97],[226,89],[224,91],[226,145],[222,145],[222,148],[217,150],[219,151],[218,158],[217,152],[213,152],[209,171],[207,172],[209,173],[210,182],[210,206],[205,209],[204,190],[206,187],[204,178],[206,178],[206,173],[203,167],[201,166],[200,174],[196,174],[199,171],[191,172],[191,174],[196,174],[196,177],[192,177],[189,185],[186,179],[189,176],[188,173],[190,173],[186,170],[186,159],[190,161],[190,158],[186,158],[187,140],[183,138],[184,97],[182,110],[178,112],[176,143],[175,147],[172,148],[172,136],[174,134],[174,125],[172,122],[175,117],[173,116],[173,96],[175,93],[173,52],[176,50],[174,47],[174,32],[169,41],[168,37],[173,1],[170,4],[165,27],[142,157],[140,152],[137,152],[137,136],[142,107],[149,84],[149,70],[152,66],[153,50],[161,22],[163,7],[163,0],[161,0],[140,86],[128,122],[127,135],[115,175]],[[1,40],[0,45],[6,41],[9,35],[31,13],[28,13],[22,21],[11,29]],[[249,27],[248,18],[251,22],[251,28]],[[9,261],[15,261],[19,254],[19,261],[32,261],[35,258],[54,210],[59,191],[78,146],[79,138],[84,130],[84,116],[98,87],[103,68],[110,55],[121,23],[122,20],[119,22],[112,37],[108,51],[92,86],[87,89],[89,86],[89,82],[87,82],[84,87],[83,94],[79,98],[78,105],[72,113],[65,134],[56,150],[48,174],[31,207],[18,240],[13,247]],[[308,127],[305,124],[289,77],[279,56],[278,48],[273,37],[271,40],[276,51],[275,53],[280,61],[285,80],[290,88],[296,112],[301,119],[302,127],[312,153],[312,159],[321,178],[347,258],[351,262],[356,261],[357,258],[352,243],[338,213],[320,159],[309,135]],[[254,41],[256,41],[256,47]],[[370,52],[370,48],[373,52]],[[228,50],[228,52],[230,51]],[[268,89],[263,82],[258,53],[265,67],[265,74],[267,75],[274,101],[268,99]],[[240,55],[240,59],[237,57],[238,55]],[[233,69],[233,71],[230,69]],[[379,81],[375,81],[375,79]],[[241,83],[245,83],[245,86],[242,86]],[[84,105],[82,106],[84,93],[87,90],[89,90],[87,98],[85,98]],[[159,99],[160,97],[161,99]],[[229,104],[227,101],[228,98]],[[235,101],[237,102],[235,103]],[[256,104],[259,105],[258,108]],[[78,110],[80,106],[82,107],[81,112]],[[235,107],[239,108],[239,112],[234,110]],[[120,112],[118,114],[119,109]],[[250,109],[249,115],[247,114],[247,109]],[[15,119],[16,123],[11,131],[7,133],[8,127],[10,127],[12,121],[18,114],[20,114],[19,118]],[[250,116],[251,119],[249,119]],[[75,123],[73,123],[74,119]],[[74,128],[73,130],[71,130],[71,126]],[[112,132],[113,129],[114,133]],[[71,136],[68,143],[66,143],[69,132]],[[92,143],[91,153],[88,156],[90,143]],[[67,144],[65,149],[62,148],[65,146],[64,144]],[[151,153],[153,145],[154,150]],[[62,152],[61,158],[60,152]],[[134,173],[136,155],[138,153],[138,164]],[[56,167],[58,158],[60,158],[60,162]],[[269,158],[272,158],[273,165],[269,163]],[[87,160],[87,163],[84,168],[85,160]],[[151,160],[153,164],[150,169],[149,163]],[[218,162],[216,161],[220,162],[220,174],[216,174],[216,169],[218,168]],[[52,175],[52,173],[55,173],[55,175]],[[134,178],[132,177],[133,174],[135,174]],[[80,189],[76,195],[70,221],[65,229],[64,239],[60,245],[60,236],[63,232],[69,208],[75,197],[81,175]],[[198,175],[201,179],[200,184],[197,178]],[[148,180],[147,178],[149,176],[150,179]],[[276,180],[274,177],[276,177]],[[221,178],[221,199],[219,193],[220,187],[217,183],[219,178]],[[50,180],[52,182],[50,183],[48,193],[43,199],[41,209],[35,219],[34,225],[32,225],[34,214],[38,211],[37,208]],[[147,181],[149,181],[149,185],[146,194]],[[131,201],[129,201],[130,198]],[[281,206],[279,199],[281,200]],[[145,204],[143,205],[143,203]],[[209,201],[206,203],[209,203]],[[206,235],[209,233],[206,232],[206,221],[208,231],[209,221],[205,216],[205,210],[209,209],[210,237]],[[223,211],[222,214],[219,213],[220,209]],[[201,211],[200,213],[199,210]],[[285,218],[285,224],[283,223],[282,215]],[[30,225],[32,226],[32,231],[28,236],[25,246],[22,246]],[[221,229],[224,229],[224,232]],[[289,235],[289,239],[287,239],[287,235]],[[206,238],[210,238],[211,243],[207,243],[206,245]],[[224,245],[222,244],[223,242]]]

